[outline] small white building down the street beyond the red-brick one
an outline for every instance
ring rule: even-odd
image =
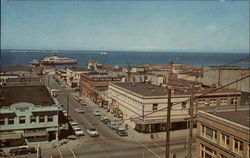
[[[86,74],[88,72],[90,72],[90,70],[87,68],[68,68],[66,70],[67,84],[72,88],[79,87],[81,74]]]

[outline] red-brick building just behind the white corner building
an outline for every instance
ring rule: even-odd
[[[82,74],[80,80],[80,95],[86,96],[93,101],[106,98],[108,83],[111,81],[121,81],[122,77],[108,73],[89,72]]]

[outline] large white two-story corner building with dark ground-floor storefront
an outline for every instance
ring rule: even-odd
[[[167,92],[164,88],[140,82],[109,83],[109,108],[138,132],[166,130]],[[189,118],[189,95],[175,92],[171,96],[171,129],[186,128]]]

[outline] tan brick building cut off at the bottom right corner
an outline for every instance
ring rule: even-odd
[[[249,158],[249,106],[199,111],[197,158]]]

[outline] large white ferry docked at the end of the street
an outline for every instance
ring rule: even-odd
[[[52,55],[50,57],[45,57],[41,63],[43,65],[68,65],[68,64],[77,64],[77,60],[72,58],[58,57],[56,55]]]

